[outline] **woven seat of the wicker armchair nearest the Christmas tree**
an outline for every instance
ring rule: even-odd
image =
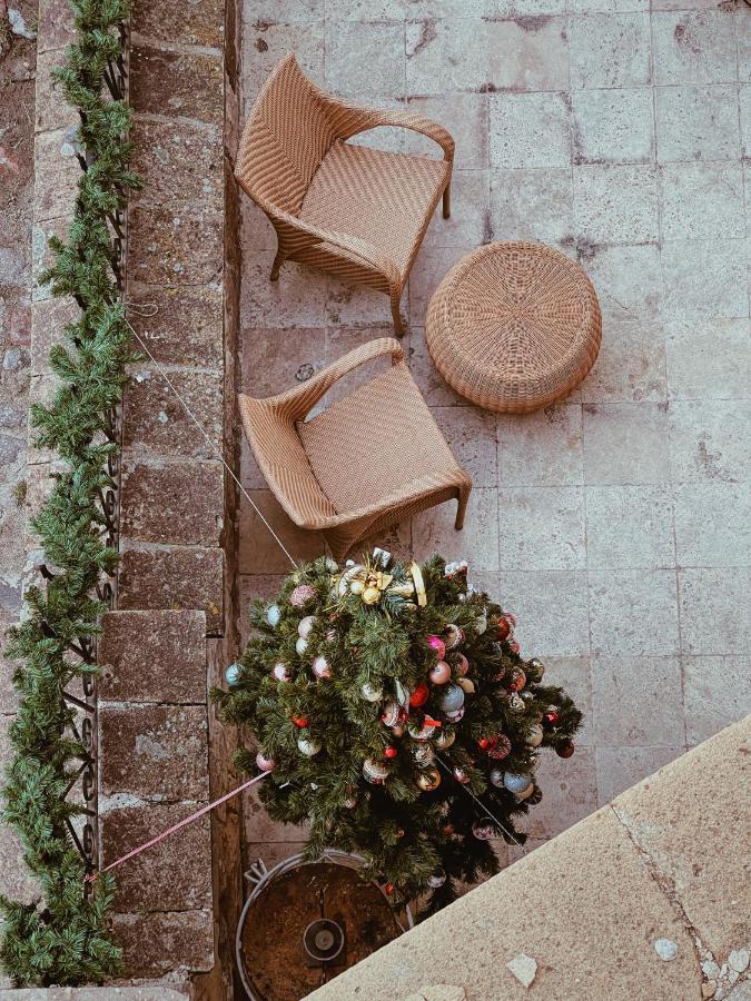
[[[421,476],[465,476],[401,361],[297,430],[339,514],[372,505]]]

